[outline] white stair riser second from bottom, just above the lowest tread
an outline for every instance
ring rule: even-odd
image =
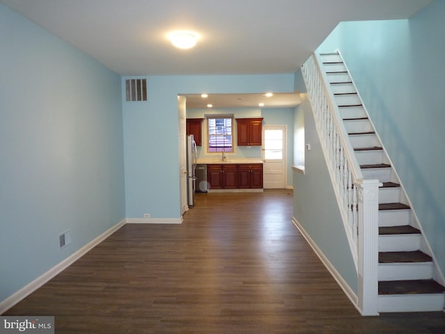
[[[378,280],[430,280],[432,268],[432,262],[380,263]]]

